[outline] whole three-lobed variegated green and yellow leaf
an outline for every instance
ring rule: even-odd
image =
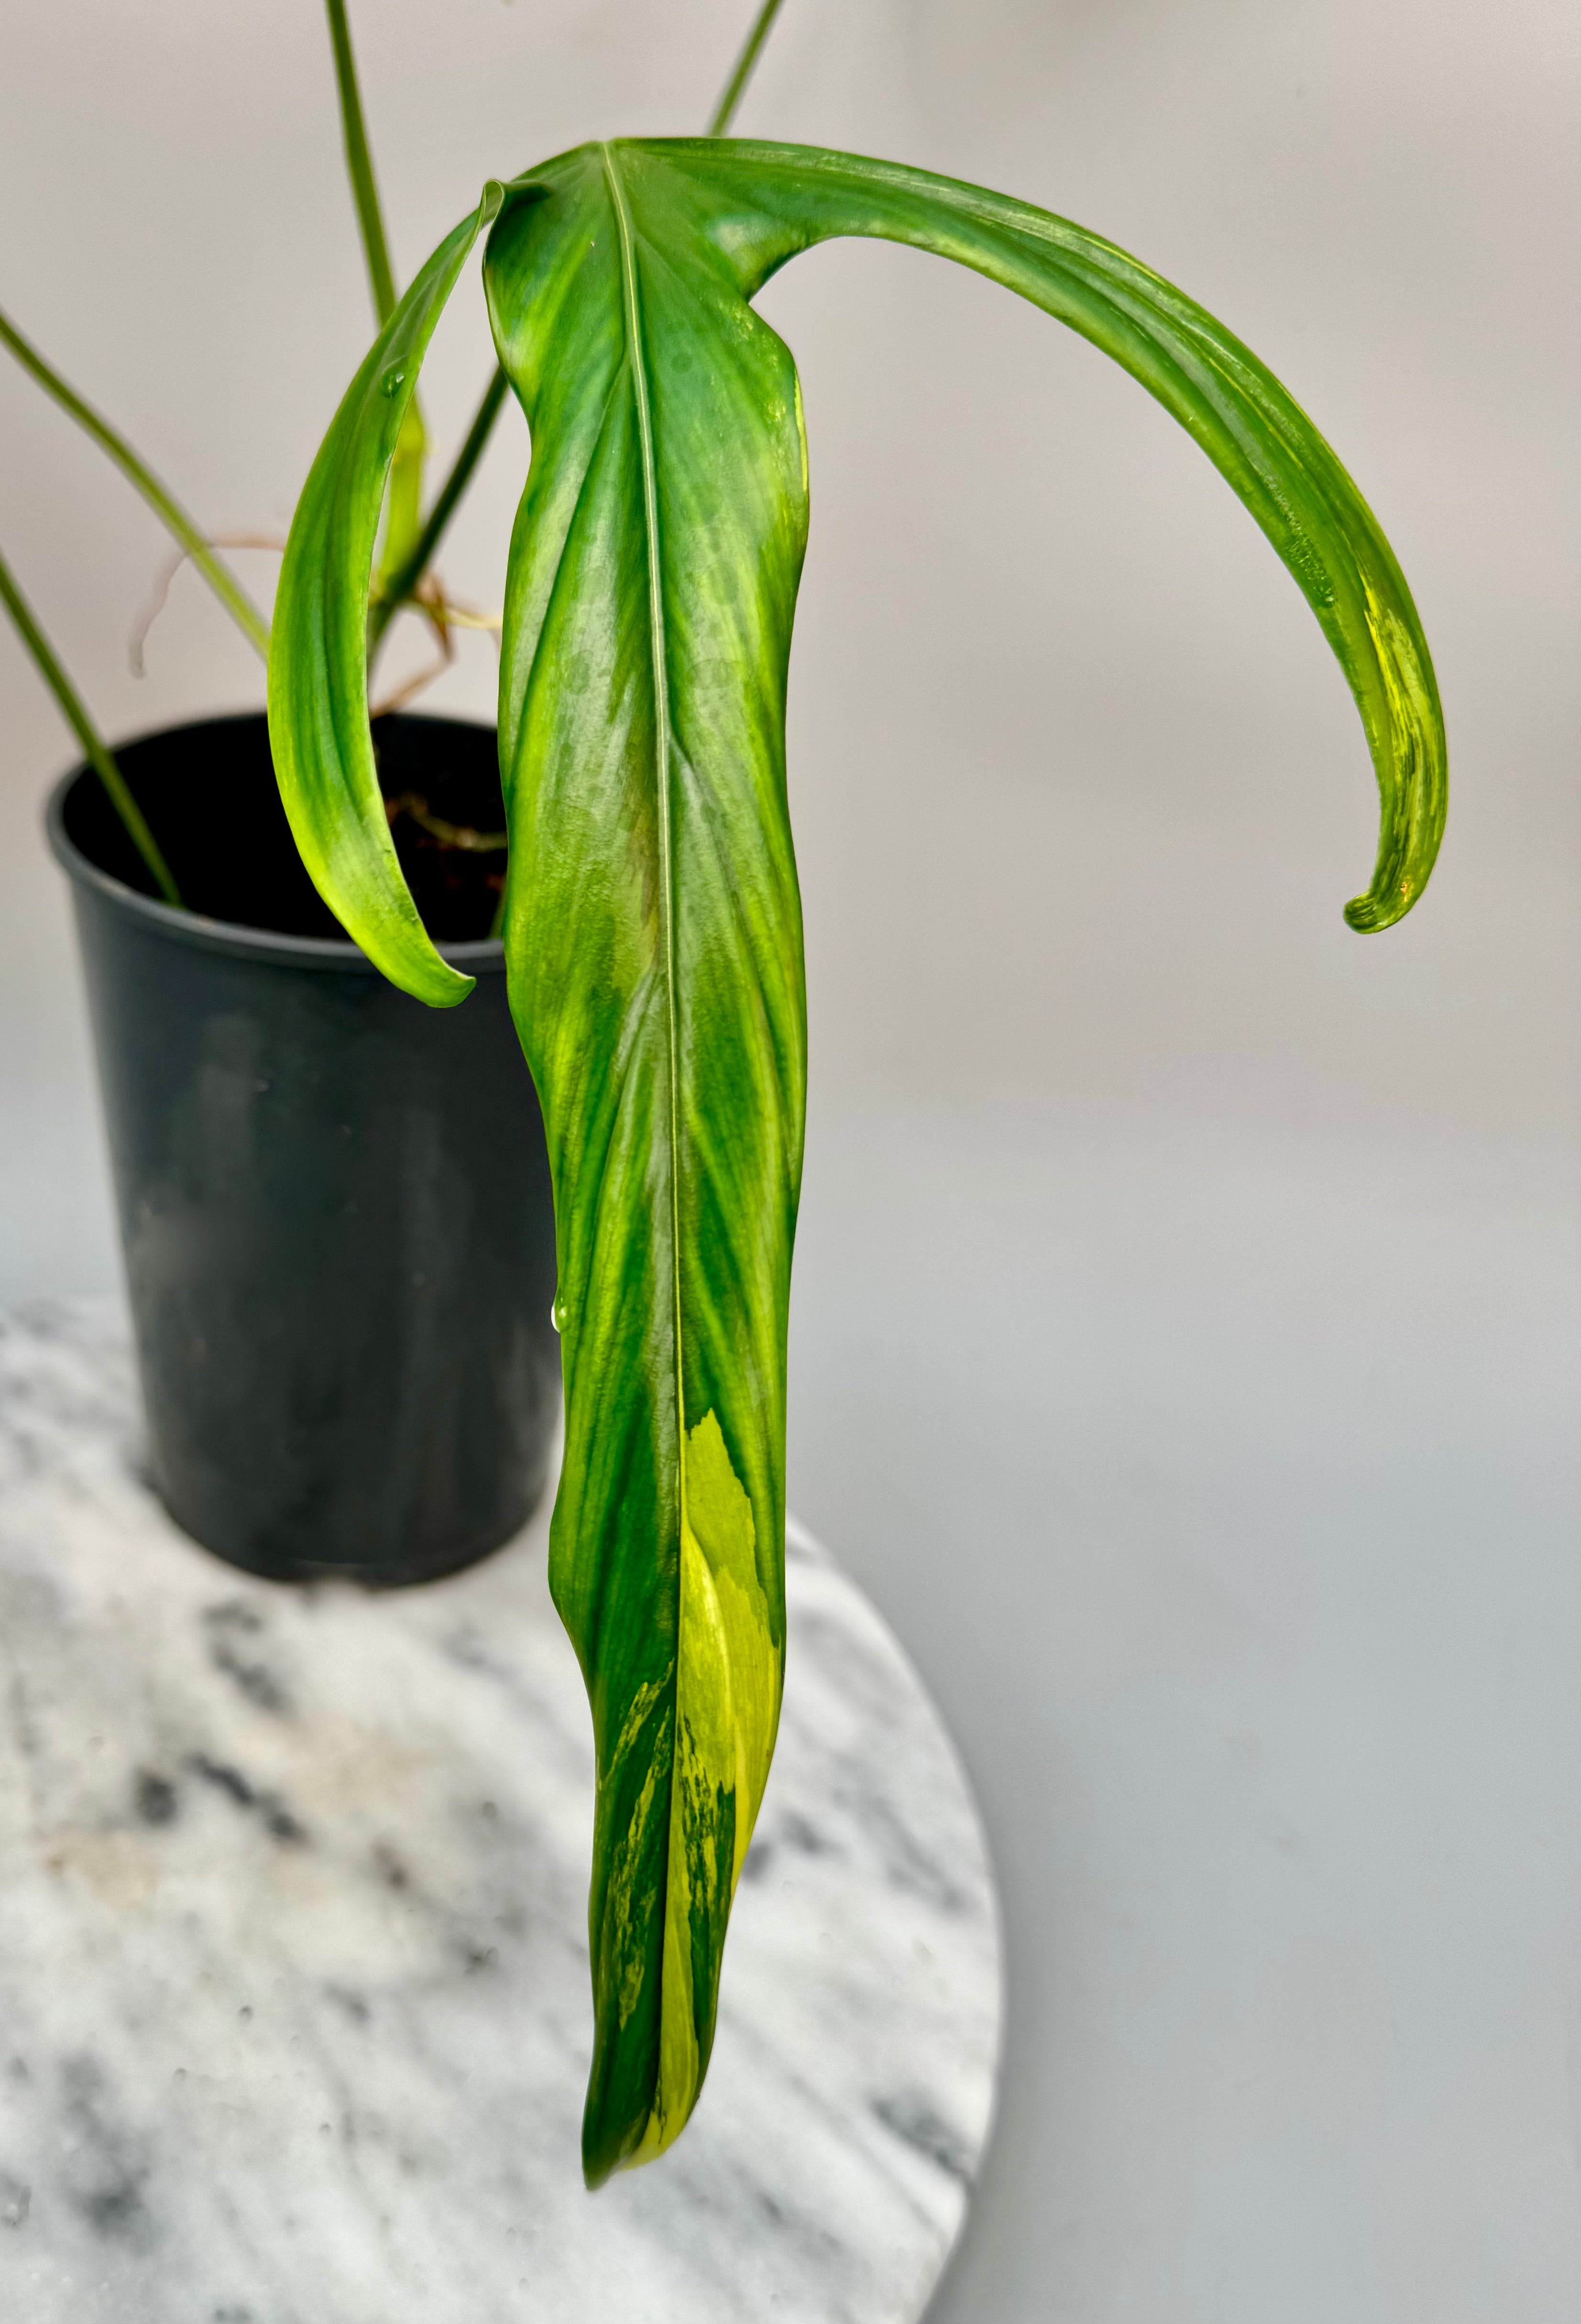
[[[1383,827],[1355,930],[1421,895],[1444,825],[1432,662],[1360,493],[1279,381],[1095,235],[807,146],[588,144],[484,200],[367,353],[291,528],[270,737],[321,895],[435,1006],[472,978],[402,883],[367,723],[391,458],[467,251],[532,432],[509,551],[505,951],[553,1162],[565,1469],[551,1585],[593,1703],[600,2182],[686,2124],[786,1650],[784,1434],[802,1167],[802,920],[786,665],[807,539],[795,365],[753,314],[832,235],[977,267],[1114,356],[1197,439],[1351,683]]]

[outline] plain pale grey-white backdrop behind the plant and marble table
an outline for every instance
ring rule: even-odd
[[[484,174],[700,125],[746,14],[360,0],[402,274]],[[0,28],[0,304],[205,523],[284,525],[367,337],[321,9]],[[1186,437],[914,253],[770,286],[814,462],[791,1497],[946,1703],[1007,1899],[937,2324],[1581,2312],[1574,88],[1565,0],[786,0],[742,114],[1237,328],[1395,539],[1455,779],[1425,904],[1351,937],[1360,730]],[[439,437],[486,370],[458,295]],[[0,428],[105,727],[256,702],[191,576],[128,674],[158,528],[14,370]],[[523,460],[512,418],[444,560],[479,600]],[[430,702],[491,688],[474,639]],[[0,637],[5,1297],[114,1276],[37,837],[70,755]]]

